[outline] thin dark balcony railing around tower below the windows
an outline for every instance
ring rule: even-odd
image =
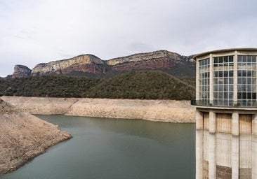
[[[192,106],[213,106],[213,107],[231,107],[231,108],[257,108],[256,100],[191,100]]]

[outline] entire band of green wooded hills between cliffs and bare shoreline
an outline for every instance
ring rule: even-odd
[[[71,76],[0,79],[0,95],[189,100],[195,97],[190,81],[160,71],[125,73],[108,80]]]

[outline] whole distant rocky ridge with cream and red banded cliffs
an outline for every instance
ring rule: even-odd
[[[33,69],[16,65],[8,78],[66,75],[112,78],[130,71],[158,70],[180,78],[195,78],[195,61],[191,56],[159,50],[103,60],[95,55],[79,55],[71,59],[37,64]]]

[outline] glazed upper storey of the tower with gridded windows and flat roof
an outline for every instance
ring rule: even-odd
[[[256,57],[256,49],[197,55],[197,104],[256,106]]]

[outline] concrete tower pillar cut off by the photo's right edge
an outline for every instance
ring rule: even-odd
[[[251,178],[257,178],[257,114],[252,120]]]

